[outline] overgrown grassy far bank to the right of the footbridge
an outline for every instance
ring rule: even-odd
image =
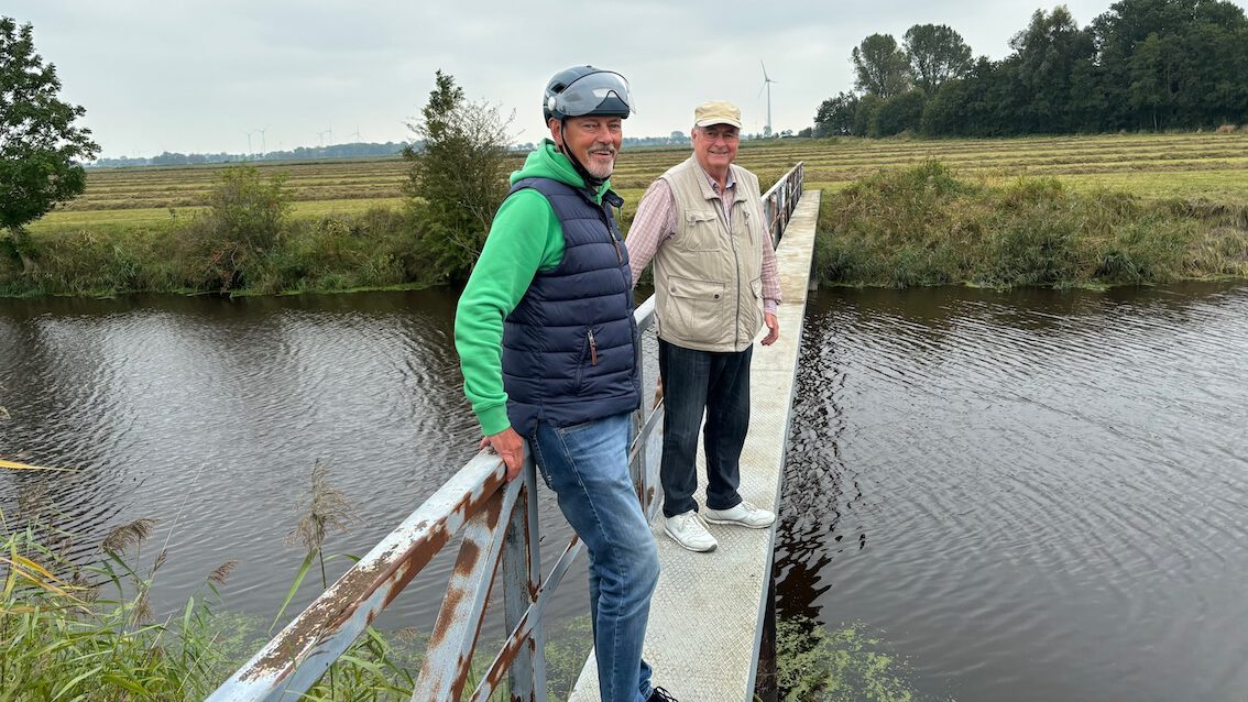
[[[1248,277],[1248,206],[1003,186],[943,163],[882,172],[820,207],[815,266],[857,286],[1113,286]]]

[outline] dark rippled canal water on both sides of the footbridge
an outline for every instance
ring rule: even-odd
[[[357,512],[326,550],[362,555],[474,453],[453,308],[0,301],[0,455],[79,469],[0,471],[0,509],[45,493],[84,557],[157,519],[157,612],[238,560],[226,602],[272,616],[317,460]],[[804,354],[781,615],[862,622],[931,698],[1248,700],[1248,288],[824,291]],[[428,626],[448,569],[391,623]]]

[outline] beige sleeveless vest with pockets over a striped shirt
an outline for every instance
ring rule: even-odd
[[[696,157],[660,176],[675,197],[676,233],[654,256],[655,319],[660,339],[688,349],[741,352],[763,328],[759,178],[730,167],[730,219]]]

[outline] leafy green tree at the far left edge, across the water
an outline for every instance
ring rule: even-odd
[[[56,66],[35,54],[31,25],[0,16],[0,227],[9,231],[0,248],[26,272],[35,267],[26,224],[86,190],[80,161],[100,151],[91,131],[74,125],[86,110],[57,99],[60,90]]]

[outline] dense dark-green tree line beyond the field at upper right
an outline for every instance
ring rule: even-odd
[[[854,47],[854,91],[815,136],[1017,136],[1233,128],[1248,121],[1248,19],[1226,0],[1122,0],[1086,27],[1036,10],[1000,61],[946,25]],[[1226,127],[1224,127],[1226,126]]]

